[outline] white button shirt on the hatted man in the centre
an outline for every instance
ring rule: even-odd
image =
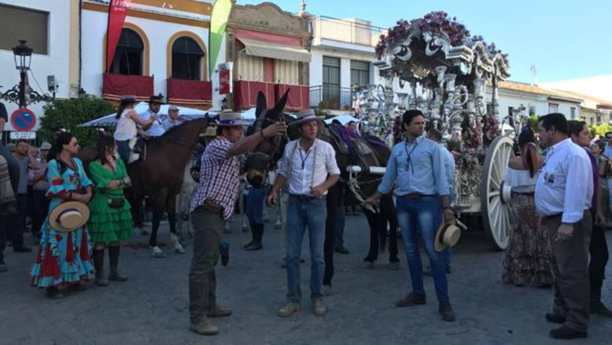
[[[308,151],[298,143],[299,139],[286,144],[277,173],[288,179],[290,194],[311,196],[311,187],[322,185],[328,175],[339,175],[340,169],[334,147],[329,143],[315,139]]]

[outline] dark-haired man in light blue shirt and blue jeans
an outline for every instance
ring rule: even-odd
[[[455,220],[455,213],[449,204],[444,154],[439,144],[423,136],[425,117],[419,110],[406,111],[401,125],[406,131],[406,141],[393,147],[383,182],[378,186],[378,191],[365,202],[375,203],[381,196],[389,194],[394,184],[397,185],[397,220],[405,243],[412,292],[395,305],[414,306],[426,303],[423,267],[419,254],[420,233],[436,286],[438,313],[444,321],[455,321],[455,314],[449,302],[446,264],[442,254],[434,250],[436,230],[442,219],[445,223]],[[439,202],[442,202],[442,212]]]

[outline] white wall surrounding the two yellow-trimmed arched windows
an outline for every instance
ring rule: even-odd
[[[104,34],[106,32],[107,15],[105,12],[83,10],[83,75],[82,85],[88,94],[102,95],[102,73],[104,57]],[[179,31],[190,31],[198,35],[208,44],[209,30],[198,26],[167,23],[144,18],[126,17],[125,23],[132,23],[142,29],[149,40],[149,75],[154,76],[154,94],[167,96],[167,53],[170,37]],[[206,46],[206,61],[209,47]],[[225,62],[225,51],[218,62]],[[207,62],[206,62],[207,64]],[[212,73],[211,73],[212,72]],[[206,80],[214,76],[214,70],[208,71]],[[214,89],[214,87],[213,87]],[[214,91],[213,91],[214,92]],[[218,96],[218,95],[217,95]],[[218,97],[217,97],[218,98]],[[221,97],[223,98],[223,97]],[[220,102],[220,100],[218,101]],[[216,104],[215,104],[216,105]],[[214,108],[217,108],[214,106]],[[220,109],[220,103],[217,109]]]

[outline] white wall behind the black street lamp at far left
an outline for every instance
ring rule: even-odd
[[[28,9],[41,10],[49,13],[48,27],[48,52],[47,54],[32,54],[31,73],[28,73],[29,84],[32,89],[39,93],[47,92],[47,76],[54,75],[56,83],[59,84],[57,98],[68,98],[70,94],[70,2],[49,0],[2,0],[3,4],[9,4]],[[15,37],[15,45],[20,39],[19,28],[15,28],[10,35]],[[6,34],[6,33],[4,33]],[[15,60],[12,50],[0,50],[0,92],[6,92],[20,80],[19,72],[15,69]],[[36,81],[40,87],[36,84]],[[4,100],[10,114],[18,108],[17,104]],[[34,130],[40,127],[40,117],[43,116],[42,106],[45,103],[35,103],[28,108],[34,111],[37,117]],[[10,121],[7,122],[5,130],[13,130]]]

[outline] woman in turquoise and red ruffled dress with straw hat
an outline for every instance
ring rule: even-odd
[[[54,159],[48,163],[47,180],[51,187],[49,212],[65,201],[88,204],[91,199],[91,180],[83,163],[73,158],[78,153],[78,141],[69,132],[59,133],[53,151]],[[50,157],[51,158],[51,157]],[[73,231],[58,231],[45,220],[40,229],[40,244],[31,270],[32,286],[47,289],[51,299],[63,297],[59,287],[84,289],[84,281],[94,275],[91,264],[91,242],[86,226]]]

